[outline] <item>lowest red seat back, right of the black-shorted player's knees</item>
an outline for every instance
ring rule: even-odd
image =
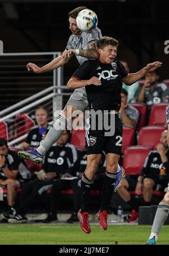
[[[124,151],[123,168],[127,175],[136,175],[141,172],[145,158],[152,151],[148,146],[130,146]]]

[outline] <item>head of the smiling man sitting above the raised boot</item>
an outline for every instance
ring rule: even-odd
[[[40,106],[35,111],[36,121],[39,127],[47,127],[48,125],[48,111],[46,107]]]

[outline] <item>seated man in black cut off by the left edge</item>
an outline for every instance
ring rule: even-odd
[[[21,164],[22,160],[8,148],[7,141],[0,138],[0,186],[7,188],[9,210],[14,206],[17,189],[25,182],[18,171]]]

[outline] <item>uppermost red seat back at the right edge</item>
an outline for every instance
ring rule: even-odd
[[[148,125],[165,125],[166,124],[166,107],[168,103],[154,104],[150,111]]]

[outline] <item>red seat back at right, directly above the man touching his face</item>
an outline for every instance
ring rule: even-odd
[[[156,145],[160,142],[161,133],[165,129],[165,127],[157,125],[145,126],[141,128],[137,145],[151,146],[153,149],[156,149]]]

